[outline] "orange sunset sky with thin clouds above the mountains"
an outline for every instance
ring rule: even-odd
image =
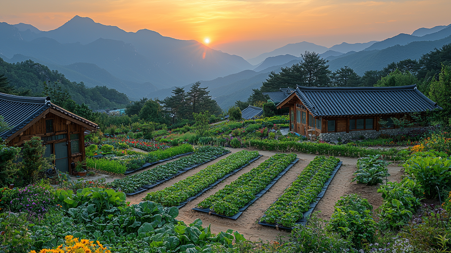
[[[451,0],[1,0],[0,22],[48,31],[79,15],[249,59],[287,43],[331,47],[448,25],[450,9]]]

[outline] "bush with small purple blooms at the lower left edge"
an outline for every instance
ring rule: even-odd
[[[41,181],[21,189],[6,191],[2,201],[6,204],[3,211],[25,212],[29,214],[30,219],[41,219],[51,206],[56,205],[55,189]]]

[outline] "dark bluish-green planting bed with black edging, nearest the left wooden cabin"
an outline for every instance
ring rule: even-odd
[[[193,155],[182,157],[173,162],[162,164],[122,179],[116,179],[110,183],[110,186],[120,189],[129,196],[135,195],[227,153],[230,153],[230,151],[221,147],[203,146]]]

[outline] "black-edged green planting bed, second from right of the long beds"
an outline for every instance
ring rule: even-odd
[[[195,211],[236,220],[266,193],[299,159],[295,154],[276,154],[248,173],[239,176],[198,204]]]

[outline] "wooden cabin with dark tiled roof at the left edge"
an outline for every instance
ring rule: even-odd
[[[51,103],[50,97],[20,97],[0,93],[0,115],[10,129],[0,133],[8,145],[23,146],[24,141],[40,136],[46,156],[55,155],[56,169],[72,171],[72,163],[85,158],[84,136],[97,124]]]

